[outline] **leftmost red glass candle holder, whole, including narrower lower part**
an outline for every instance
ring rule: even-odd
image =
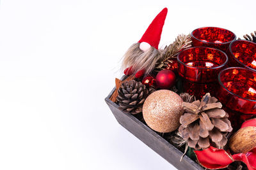
[[[214,96],[218,73],[228,62],[224,52],[204,46],[191,47],[180,52],[177,60],[179,75],[185,80],[185,92],[196,97],[207,92]]]

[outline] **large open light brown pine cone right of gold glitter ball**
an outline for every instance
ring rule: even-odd
[[[221,103],[209,93],[193,103],[183,103],[185,113],[180,117],[179,132],[188,146],[196,150],[210,145],[223,148],[227,132],[232,131],[228,113],[221,110]]]

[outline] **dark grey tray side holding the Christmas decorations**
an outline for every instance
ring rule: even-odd
[[[166,139],[162,138],[159,134],[157,134],[157,132],[143,124],[143,122],[138,120],[138,118],[119,110],[118,104],[109,99],[114,91],[115,88],[111,91],[108,97],[106,97],[105,101],[120,125],[122,125],[138,139],[143,141],[143,143],[152,148],[152,150],[161,155],[161,157],[170,162],[170,164],[175,166],[177,169],[204,170],[202,166],[189,159],[189,157],[186,155],[180,162],[180,157],[182,156],[182,152],[180,152],[180,150],[166,141]]]

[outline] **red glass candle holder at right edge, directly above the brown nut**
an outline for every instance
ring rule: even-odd
[[[222,104],[244,114],[256,114],[256,72],[230,67],[220,72],[216,96]]]

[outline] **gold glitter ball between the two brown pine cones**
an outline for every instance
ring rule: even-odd
[[[157,132],[175,131],[183,113],[182,99],[171,90],[157,90],[143,104],[143,118]]]

